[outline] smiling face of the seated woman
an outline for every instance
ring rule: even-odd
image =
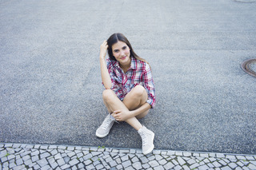
[[[121,65],[130,64],[130,48],[125,42],[118,41],[112,45],[112,53]]]

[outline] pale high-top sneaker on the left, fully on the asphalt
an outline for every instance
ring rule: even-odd
[[[105,137],[109,134],[110,129],[114,125],[114,117],[111,118],[112,116],[108,114],[105,118],[105,120],[102,122],[102,125],[97,129],[96,131],[96,136],[98,137]]]

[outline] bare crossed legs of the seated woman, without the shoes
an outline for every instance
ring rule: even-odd
[[[146,89],[142,85],[137,85],[134,87],[134,89],[127,93],[123,101],[120,101],[111,89],[105,89],[102,93],[102,97],[108,112],[113,113],[115,110],[119,109],[126,111],[138,109],[146,103],[148,96]],[[149,109],[143,113],[138,114],[138,116],[130,117],[125,121],[138,131],[138,129],[142,128],[142,125],[138,119],[145,117],[148,112]]]

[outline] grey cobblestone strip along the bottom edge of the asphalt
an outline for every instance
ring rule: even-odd
[[[256,155],[213,152],[0,144],[2,169],[256,169]]]

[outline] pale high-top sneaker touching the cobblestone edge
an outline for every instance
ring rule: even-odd
[[[149,154],[154,149],[154,132],[145,126],[138,130],[138,134],[142,137],[142,152],[144,155]]]

